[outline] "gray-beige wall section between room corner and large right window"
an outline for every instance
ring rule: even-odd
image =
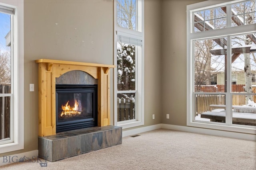
[[[186,6],[204,0],[162,0],[162,123],[186,126]],[[166,119],[170,114],[170,119]]]

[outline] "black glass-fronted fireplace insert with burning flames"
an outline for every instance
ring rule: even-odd
[[[97,126],[97,84],[56,84],[56,133]]]

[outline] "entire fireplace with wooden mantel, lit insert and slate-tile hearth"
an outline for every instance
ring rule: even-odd
[[[109,69],[114,65],[36,63],[40,158],[53,162],[122,143],[122,127],[110,125]]]

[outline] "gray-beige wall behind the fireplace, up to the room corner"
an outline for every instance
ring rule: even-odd
[[[145,2],[145,126],[161,122],[160,1]],[[156,14],[153,14],[155,11]],[[37,59],[114,64],[113,0],[24,0],[24,149],[38,149]],[[113,69],[110,70],[113,101]],[[35,92],[29,92],[29,84]],[[111,103],[111,116],[114,118]],[[152,120],[152,114],[156,119]],[[112,122],[113,124],[113,119]]]

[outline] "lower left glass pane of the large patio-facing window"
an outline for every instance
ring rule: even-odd
[[[221,37],[194,41],[196,121],[226,122],[226,95],[216,94],[227,89],[226,40],[226,37]]]

